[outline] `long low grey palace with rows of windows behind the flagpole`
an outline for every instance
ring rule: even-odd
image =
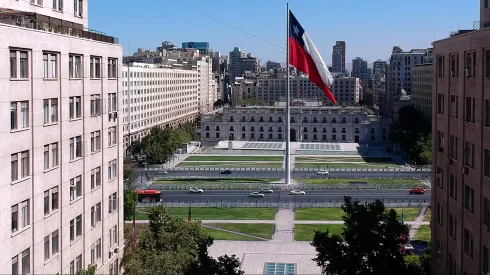
[[[225,108],[204,115],[201,141],[283,141],[284,107]],[[361,107],[291,107],[291,141],[385,143],[391,120]]]

